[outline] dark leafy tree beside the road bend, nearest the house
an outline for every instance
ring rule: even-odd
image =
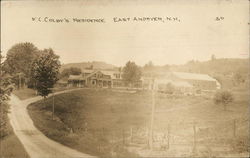
[[[39,56],[32,63],[31,77],[35,80],[35,89],[44,98],[51,93],[51,88],[58,80],[61,64],[59,56],[55,55],[52,49],[41,51]]]

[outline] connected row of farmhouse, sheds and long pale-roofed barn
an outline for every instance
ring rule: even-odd
[[[152,89],[153,82],[157,84],[159,91],[164,91],[171,84],[175,90],[189,93],[195,90],[216,90],[220,88],[219,82],[207,74],[186,72],[164,72],[158,74],[154,79],[150,76],[142,76],[141,80],[134,83],[132,87]],[[116,88],[129,87],[122,79],[120,71],[84,70],[81,75],[70,75],[69,87],[97,87]]]

